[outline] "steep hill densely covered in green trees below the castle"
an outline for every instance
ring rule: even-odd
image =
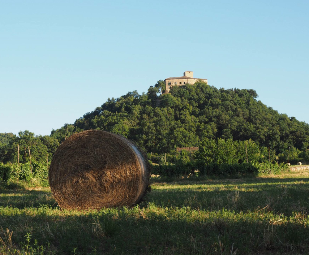
[[[163,81],[141,95],[129,92],[108,99],[101,107],[53,130],[59,141],[74,132],[101,129],[125,136],[147,152],[165,153],[176,147],[199,146],[207,139],[257,141],[277,153],[289,147],[309,147],[309,125],[279,114],[252,89],[217,89],[204,82],[175,86],[157,96]],[[158,100],[160,104],[158,105]]]

